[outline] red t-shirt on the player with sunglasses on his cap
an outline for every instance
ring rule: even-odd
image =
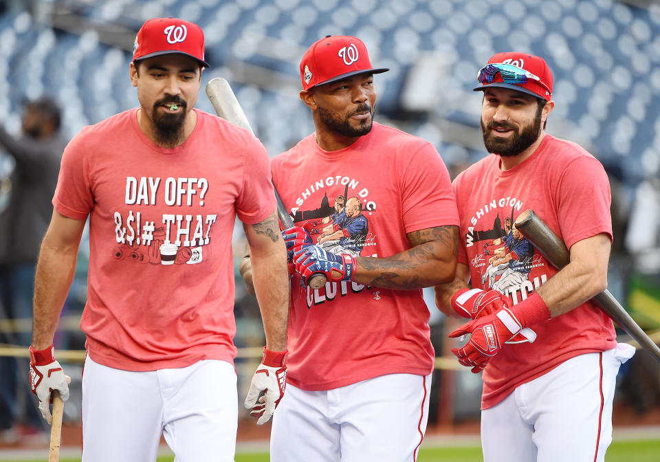
[[[472,287],[490,289],[489,276],[497,270],[494,288],[518,303],[557,270],[527,239],[507,229],[507,219],[515,223],[520,213],[531,209],[569,249],[596,234],[611,238],[610,187],[604,168],[591,154],[551,135],[510,170],[500,170],[499,159],[489,155],[454,180],[463,244],[459,263],[469,265]],[[498,247],[514,258],[495,268],[489,260]],[[591,302],[531,329],[538,334],[535,342],[505,345],[484,370],[482,408],[494,406],[518,385],[569,358],[616,346],[612,321]]]

